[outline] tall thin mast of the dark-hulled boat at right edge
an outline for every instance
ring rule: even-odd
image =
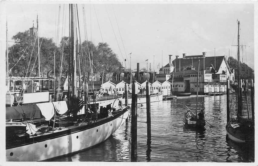
[[[237,109],[237,117],[241,116],[242,115],[242,107],[241,107],[241,93],[242,93],[242,89],[241,89],[241,80],[240,80],[240,52],[239,52],[239,38],[240,38],[240,35],[239,35],[239,29],[240,29],[240,22],[238,21],[238,35],[237,35],[237,77],[238,77],[238,91],[237,91],[237,103],[238,103],[238,109]]]

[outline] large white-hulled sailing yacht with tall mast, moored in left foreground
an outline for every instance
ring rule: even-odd
[[[75,46],[76,48],[79,46],[78,36],[74,30],[78,18],[75,19],[76,15],[73,12],[77,10],[77,5],[69,4],[69,10],[71,14],[69,37],[74,39],[70,42],[70,53],[73,54],[71,56],[74,63],[71,65],[73,73],[68,72],[68,77],[72,75],[73,95],[70,97],[68,89],[69,98],[64,101],[53,101],[48,90],[46,93],[44,91],[42,96],[40,80],[43,78],[40,74],[38,80],[25,78],[25,86],[21,84],[20,92],[8,92],[10,106],[13,105],[13,100],[17,100],[13,99],[15,95],[18,93],[21,95],[17,100],[18,106],[6,107],[6,161],[43,161],[87,149],[108,139],[128,117],[130,107],[120,105],[115,108],[122,99],[121,96],[98,98],[93,95],[91,99],[88,95],[85,74],[83,86],[81,80],[78,85],[76,77],[80,77],[76,75],[80,71],[76,71],[76,59],[79,53],[77,49],[75,50]],[[93,75],[92,70],[91,75]],[[27,87],[28,85],[30,86]],[[59,83],[56,94],[58,97],[55,97],[54,91],[53,99],[59,100],[60,89]]]

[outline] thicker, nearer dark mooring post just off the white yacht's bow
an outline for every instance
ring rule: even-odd
[[[136,81],[132,82],[132,104],[131,104],[131,162],[137,162],[137,93]]]

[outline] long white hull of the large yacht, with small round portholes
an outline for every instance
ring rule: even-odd
[[[128,110],[124,110],[119,115],[105,118],[103,122],[100,120],[94,127],[86,125],[78,130],[68,129],[61,136],[54,137],[53,134],[45,140],[6,149],[6,161],[42,161],[81,151],[108,139],[127,117]]]

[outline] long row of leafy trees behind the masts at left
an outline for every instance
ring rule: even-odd
[[[12,68],[12,75],[38,76],[38,41],[36,36],[30,36],[29,31],[18,32],[12,37],[15,44],[9,48],[9,68]],[[57,47],[51,38],[39,38],[40,45],[40,68],[41,76],[54,76],[54,53],[55,53],[55,72],[56,76],[60,73],[62,65],[62,75],[67,76],[69,62],[72,67],[71,59],[69,59],[69,37],[62,37]],[[122,65],[117,55],[109,47],[108,43],[98,43],[95,46],[90,41],[84,41],[78,50],[80,60],[81,75],[90,73],[90,62],[93,61],[93,72],[104,75],[114,72],[120,72]],[[20,60],[19,60],[20,59]],[[93,60],[92,60],[93,59]],[[78,65],[77,65],[78,69]],[[27,72],[28,70],[28,72]]]

